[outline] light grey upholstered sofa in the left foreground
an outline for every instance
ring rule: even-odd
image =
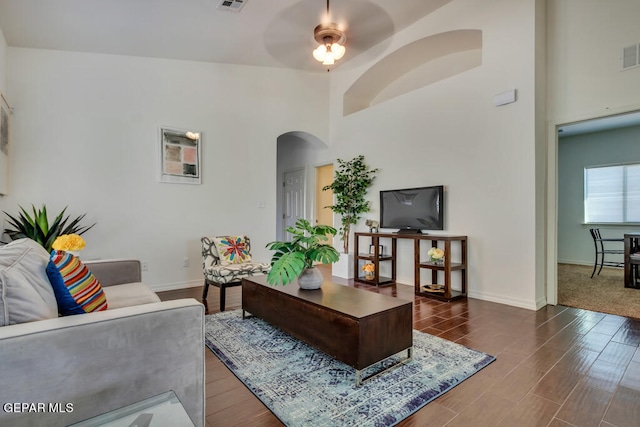
[[[193,423],[204,426],[201,303],[160,302],[141,282],[138,261],[87,262],[107,296],[106,311],[10,324],[15,265],[24,267],[26,258],[33,281],[45,266],[29,243],[13,261],[3,257],[7,246],[0,248],[0,425],[66,426],[173,390]]]

